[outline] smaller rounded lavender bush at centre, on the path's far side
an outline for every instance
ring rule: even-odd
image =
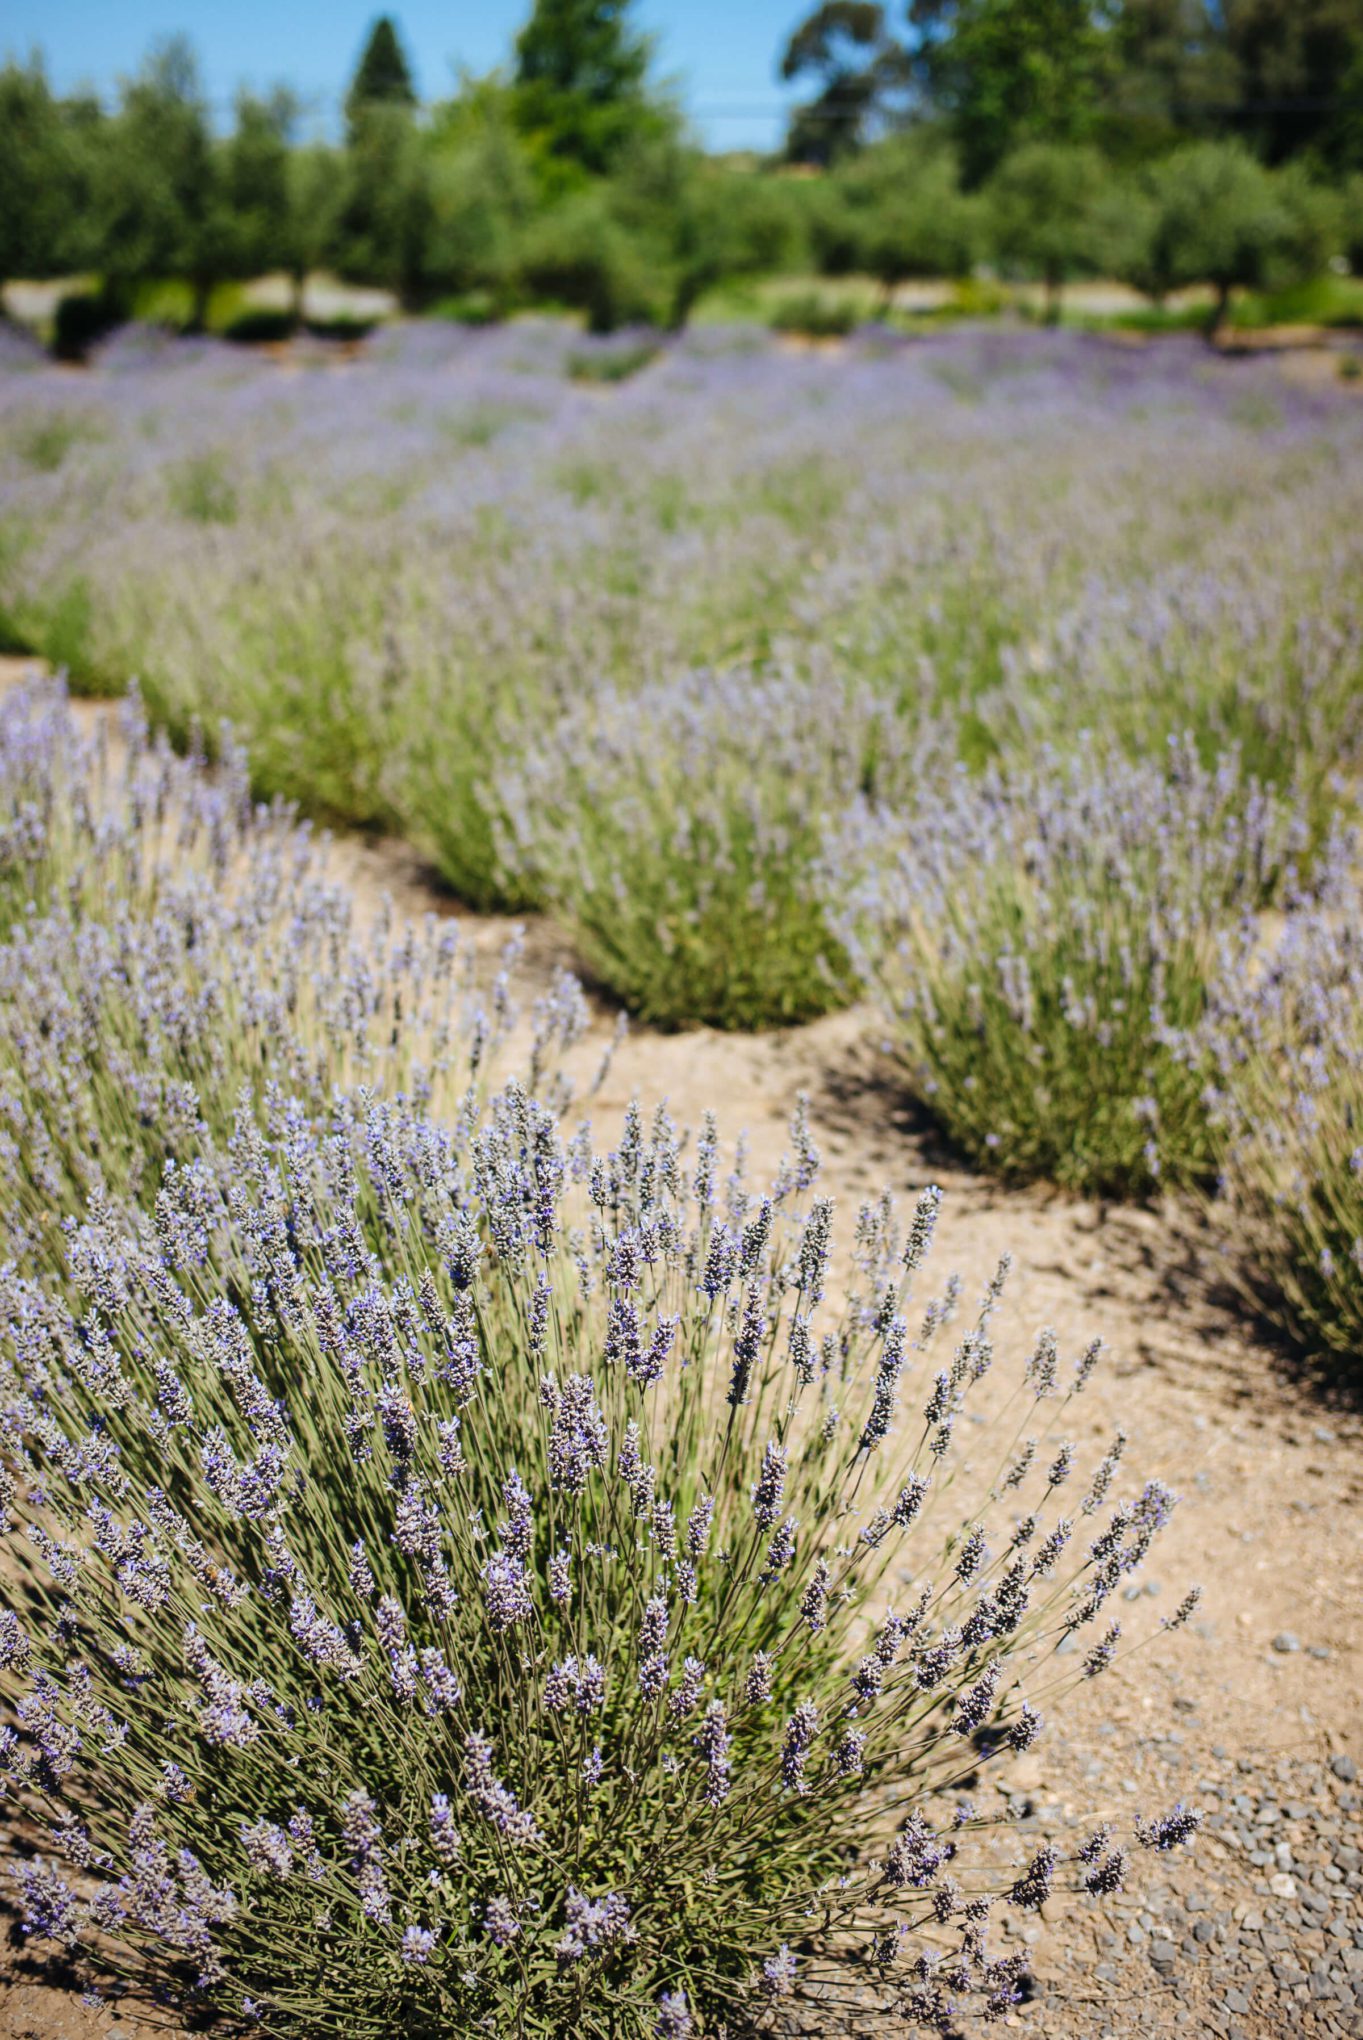
[[[828,675],[600,694],[504,769],[506,863],[645,1020],[812,1020],[847,998],[816,883],[822,820],[867,783],[902,783],[904,751],[894,712]]]

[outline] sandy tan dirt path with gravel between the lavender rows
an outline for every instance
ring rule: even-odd
[[[0,683],[6,665],[14,677],[16,663],[0,661]],[[402,845],[341,840],[333,871],[361,918],[384,894],[404,916],[457,912]],[[512,928],[457,918],[490,953]],[[526,922],[522,975],[547,983],[561,965],[561,930]],[[594,1000],[592,1034],[573,1051],[584,1079],[614,1024]],[[1061,1834],[1104,1816],[1130,1828],[1132,1812],[1183,1797],[1220,1828],[1177,1860],[1157,1858],[1155,1875],[1143,1865],[1130,1901],[1028,1928],[1037,1995],[1006,2026],[1037,2040],[1363,2034],[1363,1422],[1298,1385],[1216,1299],[1188,1214],[1010,1191],[955,1165],[877,1057],[867,1010],[761,1036],[633,1030],[592,1118],[608,1136],[633,1095],[665,1100],[692,1126],[710,1108],[728,1138],[747,1130],[761,1177],[800,1091],[843,1222],[886,1183],[906,1200],[939,1181],[939,1271],[959,1269],[969,1293],[1014,1255],[1004,1336],[1051,1324],[1075,1353],[1102,1334],[1112,1361],[1090,1389],[1090,1436],[1122,1424],[1128,1465],[1181,1495],[1153,1614],[1171,1612],[1192,1579],[1206,1589],[1194,1634],[1153,1644],[1065,1710],[1016,1779],[1026,1797],[1014,1812],[1028,1832]],[[888,2028],[867,2003],[853,2022],[824,2016],[808,2030]],[[0,1975],[0,2036],[114,2032],[141,2040],[151,2028],[110,2024],[22,1960]]]

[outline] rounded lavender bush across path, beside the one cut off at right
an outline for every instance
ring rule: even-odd
[[[1098,1193],[1216,1165],[1202,1028],[1218,940],[1241,959],[1304,824],[1232,757],[1043,753],[957,773],[835,838],[861,877],[835,928],[910,1083],[979,1165]]]

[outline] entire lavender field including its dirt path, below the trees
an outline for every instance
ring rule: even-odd
[[[4,647],[137,690],[0,700],[61,2030],[1363,2030],[1351,386],[6,347]]]

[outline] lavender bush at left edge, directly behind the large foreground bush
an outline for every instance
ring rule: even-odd
[[[206,777],[151,743],[78,736],[57,687],[0,702],[0,1185],[6,1253],[43,1251],[88,1195],[155,1197],[167,1157],[226,1124],[243,1085],[326,1112],[367,1085],[471,1110],[512,1036],[553,1110],[586,1024],[563,977],[522,1020],[514,945],[484,983],[453,922],[359,930],[324,843],[257,810],[231,738]],[[12,857],[8,847],[14,845]]]

